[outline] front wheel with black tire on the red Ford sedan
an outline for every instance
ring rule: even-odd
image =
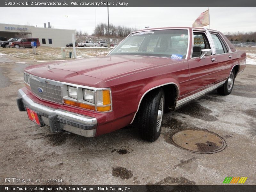
[[[161,121],[158,120],[159,107],[162,104]],[[164,113],[164,91],[156,89],[149,92],[142,100],[138,112],[138,124],[140,137],[143,140],[153,142],[161,133]]]

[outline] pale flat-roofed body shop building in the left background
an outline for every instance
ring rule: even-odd
[[[44,23],[44,28],[31,25],[13,25],[0,23],[0,37],[6,37],[7,40],[12,37],[20,37],[19,34],[26,34],[27,37],[39,38],[41,46],[64,47],[72,42],[72,34],[75,30],[51,28]]]

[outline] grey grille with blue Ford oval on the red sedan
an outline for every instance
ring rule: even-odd
[[[61,95],[61,86],[43,83],[33,78],[30,78],[29,81],[30,81],[31,91],[35,95],[37,95],[39,98],[43,100],[48,100],[55,103],[63,104],[62,95]],[[43,92],[40,93],[38,91],[38,88],[43,89]]]

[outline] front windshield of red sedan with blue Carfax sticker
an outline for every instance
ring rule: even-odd
[[[153,30],[132,33],[109,55],[143,55],[185,59],[187,49],[187,29]]]

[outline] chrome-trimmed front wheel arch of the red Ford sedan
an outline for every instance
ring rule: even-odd
[[[139,109],[140,109],[140,104],[143,100],[143,98],[145,98],[145,96],[153,91],[153,90],[156,90],[158,88],[163,88],[164,89],[164,95],[165,95],[165,106],[166,105],[169,105],[171,104],[173,106],[173,109],[175,108],[175,105],[176,105],[176,102],[177,102],[177,99],[179,97],[179,94],[180,94],[180,89],[179,89],[179,85],[176,81],[172,81],[172,82],[168,82],[168,83],[161,83],[161,84],[158,84],[158,85],[146,85],[144,86],[144,88],[142,89],[141,91],[141,94],[139,95],[142,95],[140,97],[140,100],[139,100],[139,103],[138,103],[138,107],[137,107],[137,111],[135,112],[134,116],[133,116],[133,119],[132,119],[132,122],[134,121]],[[175,89],[175,98],[170,98],[170,100],[167,99],[166,96],[170,96],[170,94],[174,94],[172,91],[173,89]],[[172,95],[173,96],[173,95]],[[130,124],[132,124],[132,122]]]

